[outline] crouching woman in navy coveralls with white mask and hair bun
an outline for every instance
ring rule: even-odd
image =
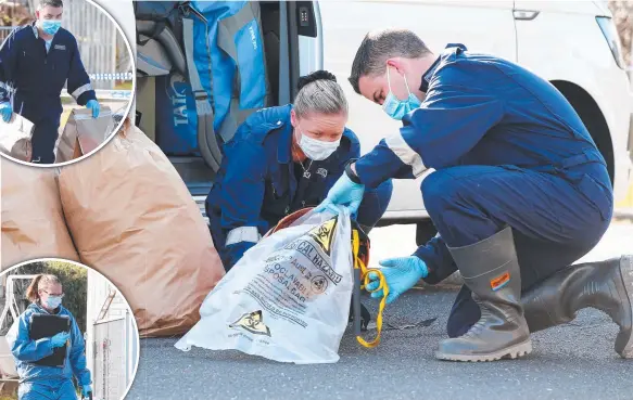
[[[333,75],[302,77],[293,105],[251,115],[225,145],[206,197],[213,241],[228,271],[279,220],[318,205],[360,156],[358,138],[345,128],[347,101]],[[368,232],[391,199],[391,181],[367,191],[357,222]]]

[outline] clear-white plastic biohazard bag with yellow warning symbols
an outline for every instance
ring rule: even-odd
[[[350,212],[308,212],[252,247],[176,343],[297,364],[339,361],[354,286]]]

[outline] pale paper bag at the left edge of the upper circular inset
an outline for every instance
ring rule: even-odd
[[[0,152],[21,162],[30,163],[33,129],[33,122],[16,113],[13,113],[9,122],[0,120]]]

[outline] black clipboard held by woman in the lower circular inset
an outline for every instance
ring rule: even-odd
[[[33,314],[30,315],[28,336],[31,340],[50,338],[61,332],[71,332],[71,319],[67,315]],[[53,349],[51,356],[34,361],[34,364],[64,367],[66,365],[66,351],[68,344]]]

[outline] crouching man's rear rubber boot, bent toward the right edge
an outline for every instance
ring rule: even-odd
[[[620,326],[616,351],[633,358],[633,256],[568,267],[523,294],[530,332],[572,321],[592,307]]]

